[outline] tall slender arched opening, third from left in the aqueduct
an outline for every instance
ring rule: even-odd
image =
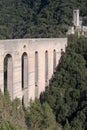
[[[35,52],[35,97],[38,97],[38,52]]]

